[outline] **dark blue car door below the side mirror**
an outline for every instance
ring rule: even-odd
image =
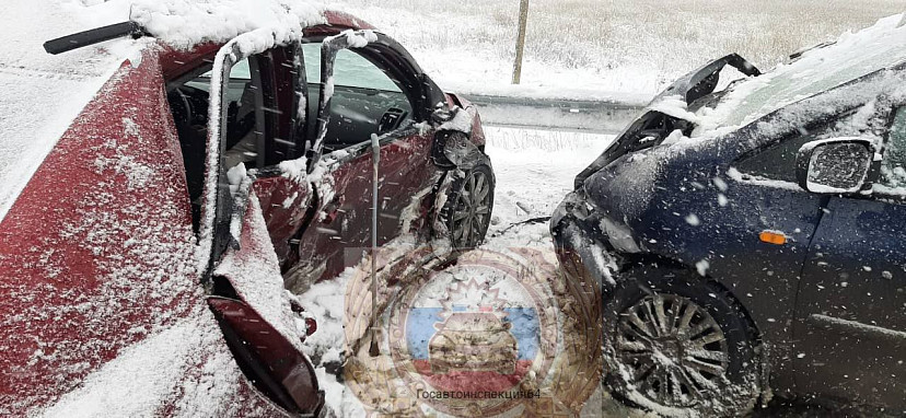
[[[797,311],[800,390],[906,407],[906,107],[872,196],[829,198]]]

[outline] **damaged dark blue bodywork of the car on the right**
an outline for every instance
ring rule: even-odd
[[[652,104],[678,94],[695,107],[710,91],[689,80],[707,81],[722,66],[682,78]],[[902,196],[810,193],[794,178],[740,174],[739,166],[791,138],[818,136],[857,111],[866,115],[862,135],[875,138],[880,162],[892,109],[903,105],[888,98],[903,71],[894,63],[713,138],[662,144],[675,129],[692,136],[696,125],[644,111],[577,177],[576,190],[554,213],[550,230],[564,270],[571,280],[596,283],[605,298],[639,266],[697,271],[724,289],[757,328],[764,391],[901,410],[906,277],[893,274],[887,259],[906,252],[906,235],[881,222],[906,219],[899,218]],[[790,163],[787,170],[794,169]],[[783,240],[759,240],[764,233]],[[872,272],[879,268],[887,280]],[[858,291],[848,289],[853,281]]]

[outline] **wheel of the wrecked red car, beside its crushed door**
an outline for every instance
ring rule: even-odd
[[[454,248],[475,248],[485,240],[493,208],[493,172],[487,164],[465,171],[453,182],[442,216]]]

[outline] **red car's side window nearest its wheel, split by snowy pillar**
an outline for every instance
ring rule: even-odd
[[[321,44],[302,47],[309,97],[321,90]],[[344,149],[383,135],[413,120],[413,103],[392,72],[356,49],[341,49],[334,62],[334,95],[330,123],[324,138],[325,152]],[[310,104],[311,112],[315,107]]]

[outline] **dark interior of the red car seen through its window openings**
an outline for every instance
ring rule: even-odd
[[[276,165],[301,156],[304,139],[292,141],[292,112],[283,112],[291,98],[294,76],[272,71],[292,62],[287,53],[266,53],[236,62],[230,72],[226,96],[226,143],[223,155],[228,170],[239,163],[246,169]],[[303,45],[307,80],[307,120],[317,117],[321,94],[321,43]],[[282,54],[280,54],[282,53]],[[186,170],[193,221],[198,230],[204,191],[205,155],[211,65],[207,63],[167,83]],[[344,49],[334,66],[334,95],[324,153],[369,141],[413,120],[413,106],[400,90],[402,83],[363,56]],[[306,138],[317,135],[317,124],[306,125]]]

